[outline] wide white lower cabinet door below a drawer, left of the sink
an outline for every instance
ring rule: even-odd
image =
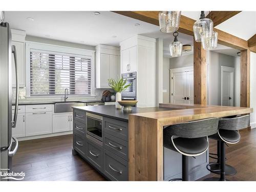
[[[52,133],[52,112],[26,113],[26,136]]]

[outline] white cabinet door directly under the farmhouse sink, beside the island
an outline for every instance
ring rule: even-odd
[[[70,114],[55,114],[52,116],[52,132],[70,131]]]

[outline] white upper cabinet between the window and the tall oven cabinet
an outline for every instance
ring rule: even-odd
[[[118,47],[96,46],[96,88],[110,89],[108,79],[120,75],[120,50]]]

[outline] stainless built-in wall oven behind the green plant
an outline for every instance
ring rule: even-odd
[[[123,73],[126,84],[131,84],[126,90],[122,91],[122,100],[136,100],[136,72]]]

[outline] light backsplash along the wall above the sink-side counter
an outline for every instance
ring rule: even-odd
[[[95,98],[94,99],[89,98],[88,100],[100,100],[102,98],[102,92],[104,90],[109,90],[109,91],[113,92],[112,89],[95,89]],[[12,99],[13,99],[13,101],[15,100],[15,94],[16,94],[16,88],[12,88]],[[86,100],[86,99],[87,98],[82,98],[80,100]],[[29,100],[29,98],[26,98],[26,87],[19,88],[19,100],[20,101]],[[43,100],[43,99],[38,98],[38,100]]]

